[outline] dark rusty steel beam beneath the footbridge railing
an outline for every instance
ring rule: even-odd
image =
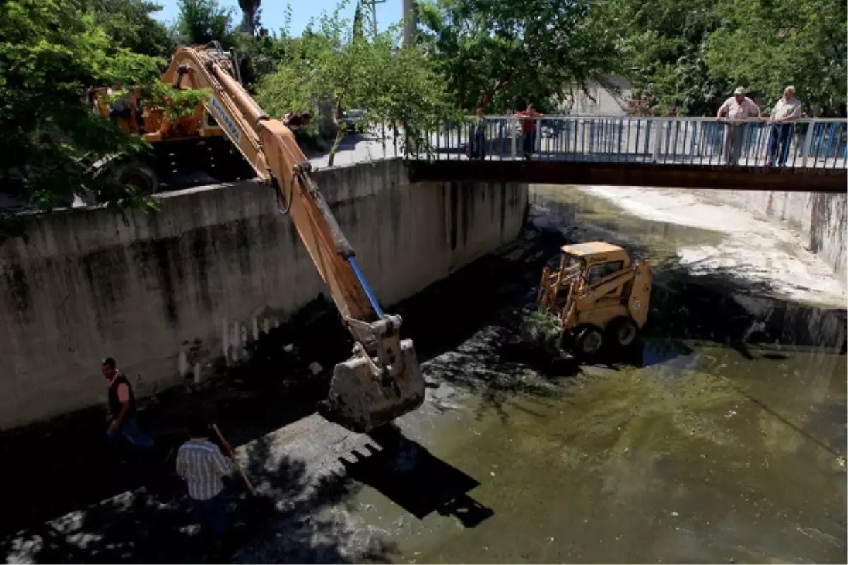
[[[494,180],[539,185],[656,186],[736,191],[848,192],[848,170],[574,161],[415,161],[414,180]]]

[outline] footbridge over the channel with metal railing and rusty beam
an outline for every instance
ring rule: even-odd
[[[513,116],[487,117],[482,129],[446,124],[428,136],[426,153],[410,159],[412,174],[417,180],[848,192],[848,119],[781,127],[768,120],[550,116],[533,124],[532,136]]]

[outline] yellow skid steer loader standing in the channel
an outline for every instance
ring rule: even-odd
[[[649,263],[592,241],[562,247],[559,268],[544,268],[537,303],[559,325],[561,348],[590,358],[607,344],[636,341],[648,319],[650,288]]]

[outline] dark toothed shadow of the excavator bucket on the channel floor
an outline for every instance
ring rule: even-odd
[[[476,479],[408,440],[395,425],[369,436],[379,450],[367,444],[368,453],[352,451],[339,458],[349,478],[370,485],[418,519],[438,512],[473,528],[494,514],[468,495],[480,485]]]

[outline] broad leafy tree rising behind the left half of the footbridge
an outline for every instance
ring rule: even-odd
[[[618,67],[611,13],[589,0],[431,0],[419,12],[418,42],[467,110],[563,98]]]

